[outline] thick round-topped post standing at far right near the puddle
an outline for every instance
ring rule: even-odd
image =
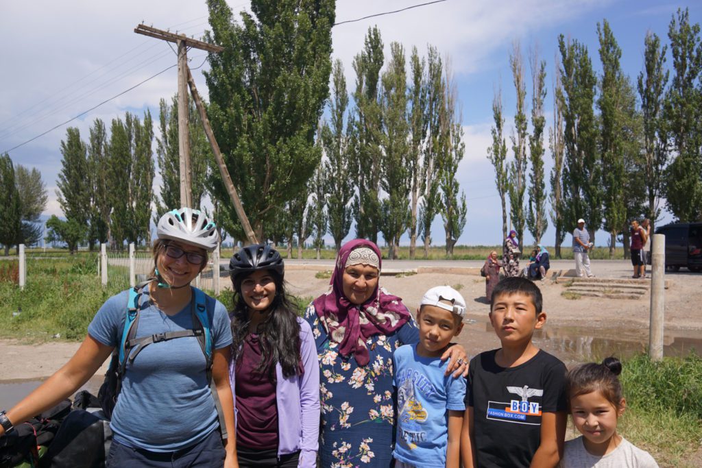
[[[651,241],[651,318],[649,357],[663,359],[663,312],[665,312],[665,235],[654,234]]]

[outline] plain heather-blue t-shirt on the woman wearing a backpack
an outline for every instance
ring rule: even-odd
[[[194,328],[190,304],[168,316],[152,305],[148,289],[143,290],[136,337]],[[110,297],[95,314],[88,334],[103,345],[119,346],[127,300],[128,291]],[[227,309],[209,296],[206,309],[212,323],[213,349],[230,346]],[[173,452],[208,436],[219,422],[205,366],[197,337],[145,347],[131,365],[127,364],[110,423],[114,440],[133,448]]]

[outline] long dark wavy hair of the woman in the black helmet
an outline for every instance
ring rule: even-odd
[[[300,323],[294,307],[285,295],[283,277],[274,270],[267,270],[275,283],[275,297],[268,318],[258,326],[261,360],[256,372],[263,373],[268,367],[268,377],[275,380],[275,363],[280,363],[285,377],[301,374],[300,368]],[[241,283],[249,275],[240,274],[232,278],[234,285],[234,311],[232,312],[232,359],[241,359],[246,335],[249,335],[249,307],[241,295]]]

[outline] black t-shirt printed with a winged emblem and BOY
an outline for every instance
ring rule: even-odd
[[[541,443],[541,413],[567,410],[566,367],[539,350],[520,366],[495,363],[497,349],[470,361],[465,406],[473,407],[479,467],[529,467]]]

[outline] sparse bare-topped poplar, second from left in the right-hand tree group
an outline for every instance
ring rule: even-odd
[[[524,192],[527,189],[527,113],[525,98],[527,97],[527,83],[524,80],[524,58],[519,43],[514,44],[510,54],[510,69],[512,80],[517,91],[517,112],[515,112],[515,133],[512,134],[512,153],[514,159],[509,166],[508,187],[510,194],[510,219],[517,231],[519,249],[524,250]]]

